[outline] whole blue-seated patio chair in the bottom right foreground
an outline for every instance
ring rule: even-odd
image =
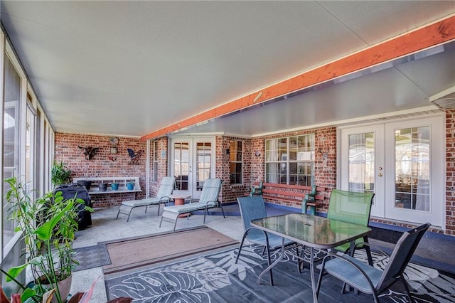
[[[410,262],[412,254],[417,248],[422,236],[430,226],[429,223],[426,223],[403,233],[397,245],[395,245],[395,249],[392,251],[392,255],[390,255],[390,259],[384,270],[370,266],[350,255],[327,255],[323,258],[322,263],[317,266],[321,270],[321,273],[318,279],[316,298],[321,288],[323,275],[329,274],[354,287],[354,289],[358,289],[360,292],[373,294],[375,302],[379,302],[378,294],[380,292],[385,291],[400,280],[405,286],[408,299],[410,302],[414,302],[405,277],[403,277],[403,272],[407,263]],[[369,243],[363,243],[363,245],[375,248],[375,246]],[[380,248],[377,249],[384,255],[387,255]]]

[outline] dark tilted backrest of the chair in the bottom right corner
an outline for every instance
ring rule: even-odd
[[[380,289],[389,279],[402,275],[407,263],[411,260],[412,254],[414,254],[414,250],[430,226],[430,223],[426,223],[403,233],[395,245],[392,255],[390,255],[389,262],[382,272],[378,285],[375,285],[376,289]]]

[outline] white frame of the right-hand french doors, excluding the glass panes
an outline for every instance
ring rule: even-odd
[[[432,208],[427,211],[416,211],[405,208],[395,208],[395,129],[409,128],[409,127],[422,127],[429,126],[431,129],[431,143],[430,143],[430,156],[431,156],[431,169],[430,180],[431,188],[430,195],[432,199]],[[379,139],[375,139],[376,147],[376,161],[375,161],[375,205],[372,207],[371,216],[378,218],[385,218],[390,220],[400,220],[411,223],[431,223],[435,226],[441,226],[445,229],[445,119],[444,115],[428,115],[419,117],[417,119],[397,119],[393,122],[381,124],[364,124],[355,125],[353,127],[338,127],[337,129],[337,181],[336,186],[340,189],[347,189],[347,152],[343,153],[348,145],[347,138],[349,134],[359,134],[374,131],[382,127],[382,147],[380,147]],[[378,133],[379,134],[379,133]],[[383,161],[378,159],[383,149]],[[381,166],[382,164],[382,166]],[[383,167],[381,171],[380,167]],[[379,174],[382,174],[381,185],[378,183]],[[382,186],[382,188],[381,188]],[[379,209],[382,208],[382,209]]]

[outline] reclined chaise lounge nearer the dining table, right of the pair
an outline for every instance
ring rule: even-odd
[[[205,223],[205,215],[208,214],[208,209],[218,206],[220,206],[221,211],[223,212],[223,217],[226,218],[225,212],[223,211],[223,206],[221,203],[218,203],[218,195],[220,193],[222,183],[223,180],[219,178],[207,179],[204,182],[204,186],[202,188],[202,192],[200,193],[198,202],[164,207],[164,212],[163,215],[161,215],[159,227],[161,227],[161,223],[163,223],[163,221],[171,222],[173,223],[173,230],[175,231],[177,219],[180,218],[180,216],[183,214],[186,214],[186,218],[188,219],[193,211],[204,211],[203,223]]]

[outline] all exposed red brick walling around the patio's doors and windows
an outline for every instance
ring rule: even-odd
[[[301,132],[290,132],[286,134],[275,134],[267,137],[245,139],[239,137],[217,136],[215,138],[215,166],[216,177],[223,179],[223,188],[220,193],[220,201],[235,201],[238,196],[247,196],[253,182],[264,181],[265,170],[265,140],[279,137],[289,137],[299,134],[315,134],[315,176],[316,185],[327,188],[325,203],[319,205],[317,211],[326,213],[328,208],[328,198],[333,188],[336,187],[336,127],[324,127],[321,129],[310,129]],[[73,177],[83,176],[139,176],[142,193],[134,195],[127,193],[95,195],[95,206],[113,206],[121,201],[131,198],[141,198],[145,195],[145,161],[146,156],[142,156],[140,164],[137,166],[129,165],[127,147],[134,151],[146,150],[146,143],[139,142],[139,139],[119,138],[119,153],[116,161],[109,159],[109,137],[82,135],[82,134],[55,134],[55,160],[68,164],[73,170]],[[230,148],[230,140],[242,140],[244,142],[244,182],[241,186],[230,184],[230,161],[225,158],[223,151]],[[77,147],[92,146],[100,147],[100,151],[90,161],[85,160],[82,150]],[[153,152],[152,142],[152,152]],[[168,138],[158,139],[159,152],[159,173],[158,180],[167,176],[168,171]],[[255,156],[256,151],[259,156]],[[154,164],[151,161],[151,176],[153,176]],[[151,196],[157,191],[159,181],[151,179]],[[98,197],[105,196],[105,197]],[[300,207],[300,206],[294,206]],[[392,223],[387,220],[378,220],[382,223]],[[392,223],[394,224],[394,223]],[[404,226],[404,225],[403,225]],[[437,231],[437,230],[435,230]],[[441,232],[441,231],[439,231]],[[446,111],[446,230],[444,233],[455,235],[455,110]]]

